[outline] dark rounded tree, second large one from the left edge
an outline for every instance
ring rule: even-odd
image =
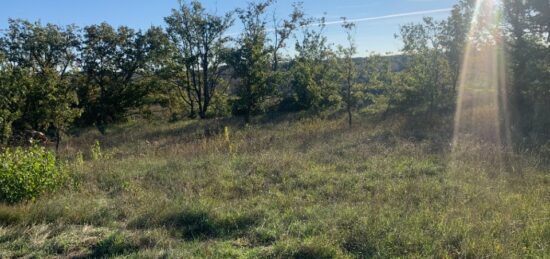
[[[147,68],[157,50],[154,35],[107,23],[84,28],[80,62],[85,83],[79,89],[84,123],[95,123],[105,133],[107,123],[139,107],[150,92],[144,84]]]

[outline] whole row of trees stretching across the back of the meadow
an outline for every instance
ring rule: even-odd
[[[247,122],[269,111],[342,109],[350,126],[359,108],[426,119],[453,112],[465,47],[476,41],[468,35],[474,1],[461,0],[446,20],[402,26],[398,59],[358,59],[353,23],[342,21],[347,44],[334,46],[323,33],[324,19],[306,17],[295,4],[278,20],[272,4],[250,3],[219,16],[199,1],[180,2],[164,28],[146,31],[9,20],[0,37],[2,143],[25,130],[58,142],[74,126],[105,132],[151,105],[169,109],[174,119],[235,115]],[[512,131],[523,142],[548,139],[549,3],[503,5],[498,26],[510,56],[505,94],[514,107]],[[242,31],[228,36],[234,23]],[[404,64],[397,68],[392,60]]]

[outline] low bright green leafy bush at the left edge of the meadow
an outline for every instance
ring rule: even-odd
[[[67,172],[55,155],[43,147],[7,148],[0,153],[0,201],[35,199],[62,185]]]

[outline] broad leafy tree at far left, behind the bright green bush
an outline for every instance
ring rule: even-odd
[[[20,87],[26,88],[15,91],[24,93],[21,99],[11,97],[24,103],[20,118],[13,123],[19,129],[30,127],[46,131],[52,128],[56,147],[59,147],[61,131],[80,115],[69,79],[80,44],[76,27],[42,26],[24,20],[10,20],[9,24],[8,33],[2,40],[8,61],[3,67],[10,70],[14,81],[7,85],[21,83]]]

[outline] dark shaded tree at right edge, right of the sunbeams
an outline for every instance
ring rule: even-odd
[[[511,80],[508,99],[512,134],[519,144],[550,139],[550,4],[547,1],[504,1]]]

